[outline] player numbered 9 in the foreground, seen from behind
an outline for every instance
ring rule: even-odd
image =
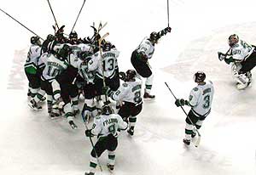
[[[105,150],[108,150],[108,169],[113,171],[115,150],[118,146],[118,130],[127,129],[127,123],[118,114],[113,114],[108,105],[102,107],[102,115],[96,116],[91,129],[85,131],[87,137],[97,136],[98,140],[90,152],[90,172],[85,175],[94,175],[97,159]]]

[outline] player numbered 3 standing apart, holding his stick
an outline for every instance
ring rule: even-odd
[[[186,117],[185,138],[183,139],[183,143],[186,145],[189,145],[191,138],[195,137],[195,127],[200,129],[202,122],[211,112],[214,89],[212,82],[206,82],[205,79],[206,74],[197,71],[194,75],[197,86],[191,90],[189,100],[177,99],[175,101],[177,107],[183,105],[191,107]]]

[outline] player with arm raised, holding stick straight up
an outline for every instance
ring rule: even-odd
[[[153,82],[153,74],[148,65],[148,59],[151,59],[154,54],[154,44],[158,42],[160,37],[166,35],[167,32],[171,32],[171,27],[166,27],[160,32],[153,31],[150,37],[144,38],[140,45],[131,54],[131,64],[140,76],[146,78],[144,99],[154,99],[154,95],[150,94]]]

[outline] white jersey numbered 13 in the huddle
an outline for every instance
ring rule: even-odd
[[[119,51],[112,48],[110,51],[102,52],[102,55],[98,51],[92,55],[89,64],[89,71],[96,71],[96,76],[102,78],[103,73],[105,77],[112,78],[115,75],[115,71],[118,69]],[[104,72],[103,72],[104,71]]]

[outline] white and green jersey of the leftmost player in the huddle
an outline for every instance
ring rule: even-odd
[[[25,71],[30,74],[36,74],[38,69],[38,59],[41,55],[41,47],[32,44],[27,53],[26,63],[24,65]]]

